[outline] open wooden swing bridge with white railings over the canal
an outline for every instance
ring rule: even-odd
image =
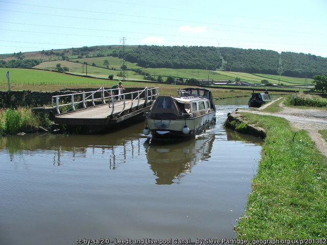
[[[108,126],[143,115],[159,94],[159,88],[123,92],[100,88],[96,91],[52,96],[56,124]],[[66,111],[66,112],[63,112]]]

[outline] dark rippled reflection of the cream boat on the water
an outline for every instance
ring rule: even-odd
[[[175,144],[146,142],[148,164],[158,177],[156,184],[179,184],[195,164],[210,158],[214,140],[214,135],[207,135]]]

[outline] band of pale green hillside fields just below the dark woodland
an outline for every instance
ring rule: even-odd
[[[109,68],[104,65],[104,61],[108,60]],[[78,63],[76,62],[78,61]],[[49,69],[56,70],[56,65],[58,63],[61,66],[67,66],[69,68],[69,72],[74,74],[83,74],[83,65],[82,63],[87,62],[87,75],[91,77],[98,78],[107,78],[110,74],[116,76],[118,72],[121,70],[122,59],[117,57],[92,57],[92,58],[79,58],[79,59],[71,59],[70,61],[63,60],[55,60],[55,61],[47,61],[42,62],[41,64],[35,66],[34,68],[39,69]],[[92,66],[91,64],[95,63],[96,66]],[[276,76],[276,75],[265,75],[265,74],[248,74],[244,72],[233,72],[233,71],[222,71],[222,70],[203,70],[203,69],[173,69],[173,68],[144,68],[137,66],[136,63],[125,62],[127,68],[132,69],[141,69],[145,73],[150,74],[152,77],[156,78],[157,76],[162,76],[165,80],[166,77],[172,76],[176,78],[195,78],[195,79],[213,79],[217,80],[231,80],[235,81],[238,77],[243,82],[248,83],[257,83],[261,84],[262,80],[268,80],[269,83],[278,84],[278,85],[308,85],[312,86],[312,79],[304,79],[304,78],[291,78],[285,76]],[[84,74],[86,72],[86,67],[84,65]],[[131,70],[127,71],[128,79],[133,80],[142,80],[143,76],[139,75]],[[116,77],[115,79],[119,79]]]

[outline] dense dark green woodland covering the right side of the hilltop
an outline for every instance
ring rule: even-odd
[[[122,50],[113,51],[123,58]],[[327,58],[311,54],[233,47],[147,46],[125,52],[125,59],[146,68],[223,69],[252,74],[313,78],[327,75]]]

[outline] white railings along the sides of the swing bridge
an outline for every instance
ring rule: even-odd
[[[112,108],[113,112],[115,103],[117,103],[118,101],[123,101],[123,112],[125,109],[127,109],[128,106],[132,108],[133,103],[137,103],[138,106],[140,100],[145,100],[145,103],[147,103],[149,100],[154,100],[155,96],[159,94],[158,90],[158,87],[145,87],[145,89],[143,90],[122,93],[123,89],[104,89],[102,87],[96,91],[54,95],[52,96],[52,107],[56,108],[57,113],[60,114],[59,108],[62,106],[70,106],[70,108],[68,108],[68,110],[66,111],[75,111],[76,105],[82,104],[83,108],[87,108],[87,104],[91,104],[91,107],[94,107],[96,106],[96,101],[101,101],[101,104],[106,104],[107,100],[109,108]],[[117,92],[118,94],[116,94]],[[126,101],[127,95],[130,95],[131,100]]]

